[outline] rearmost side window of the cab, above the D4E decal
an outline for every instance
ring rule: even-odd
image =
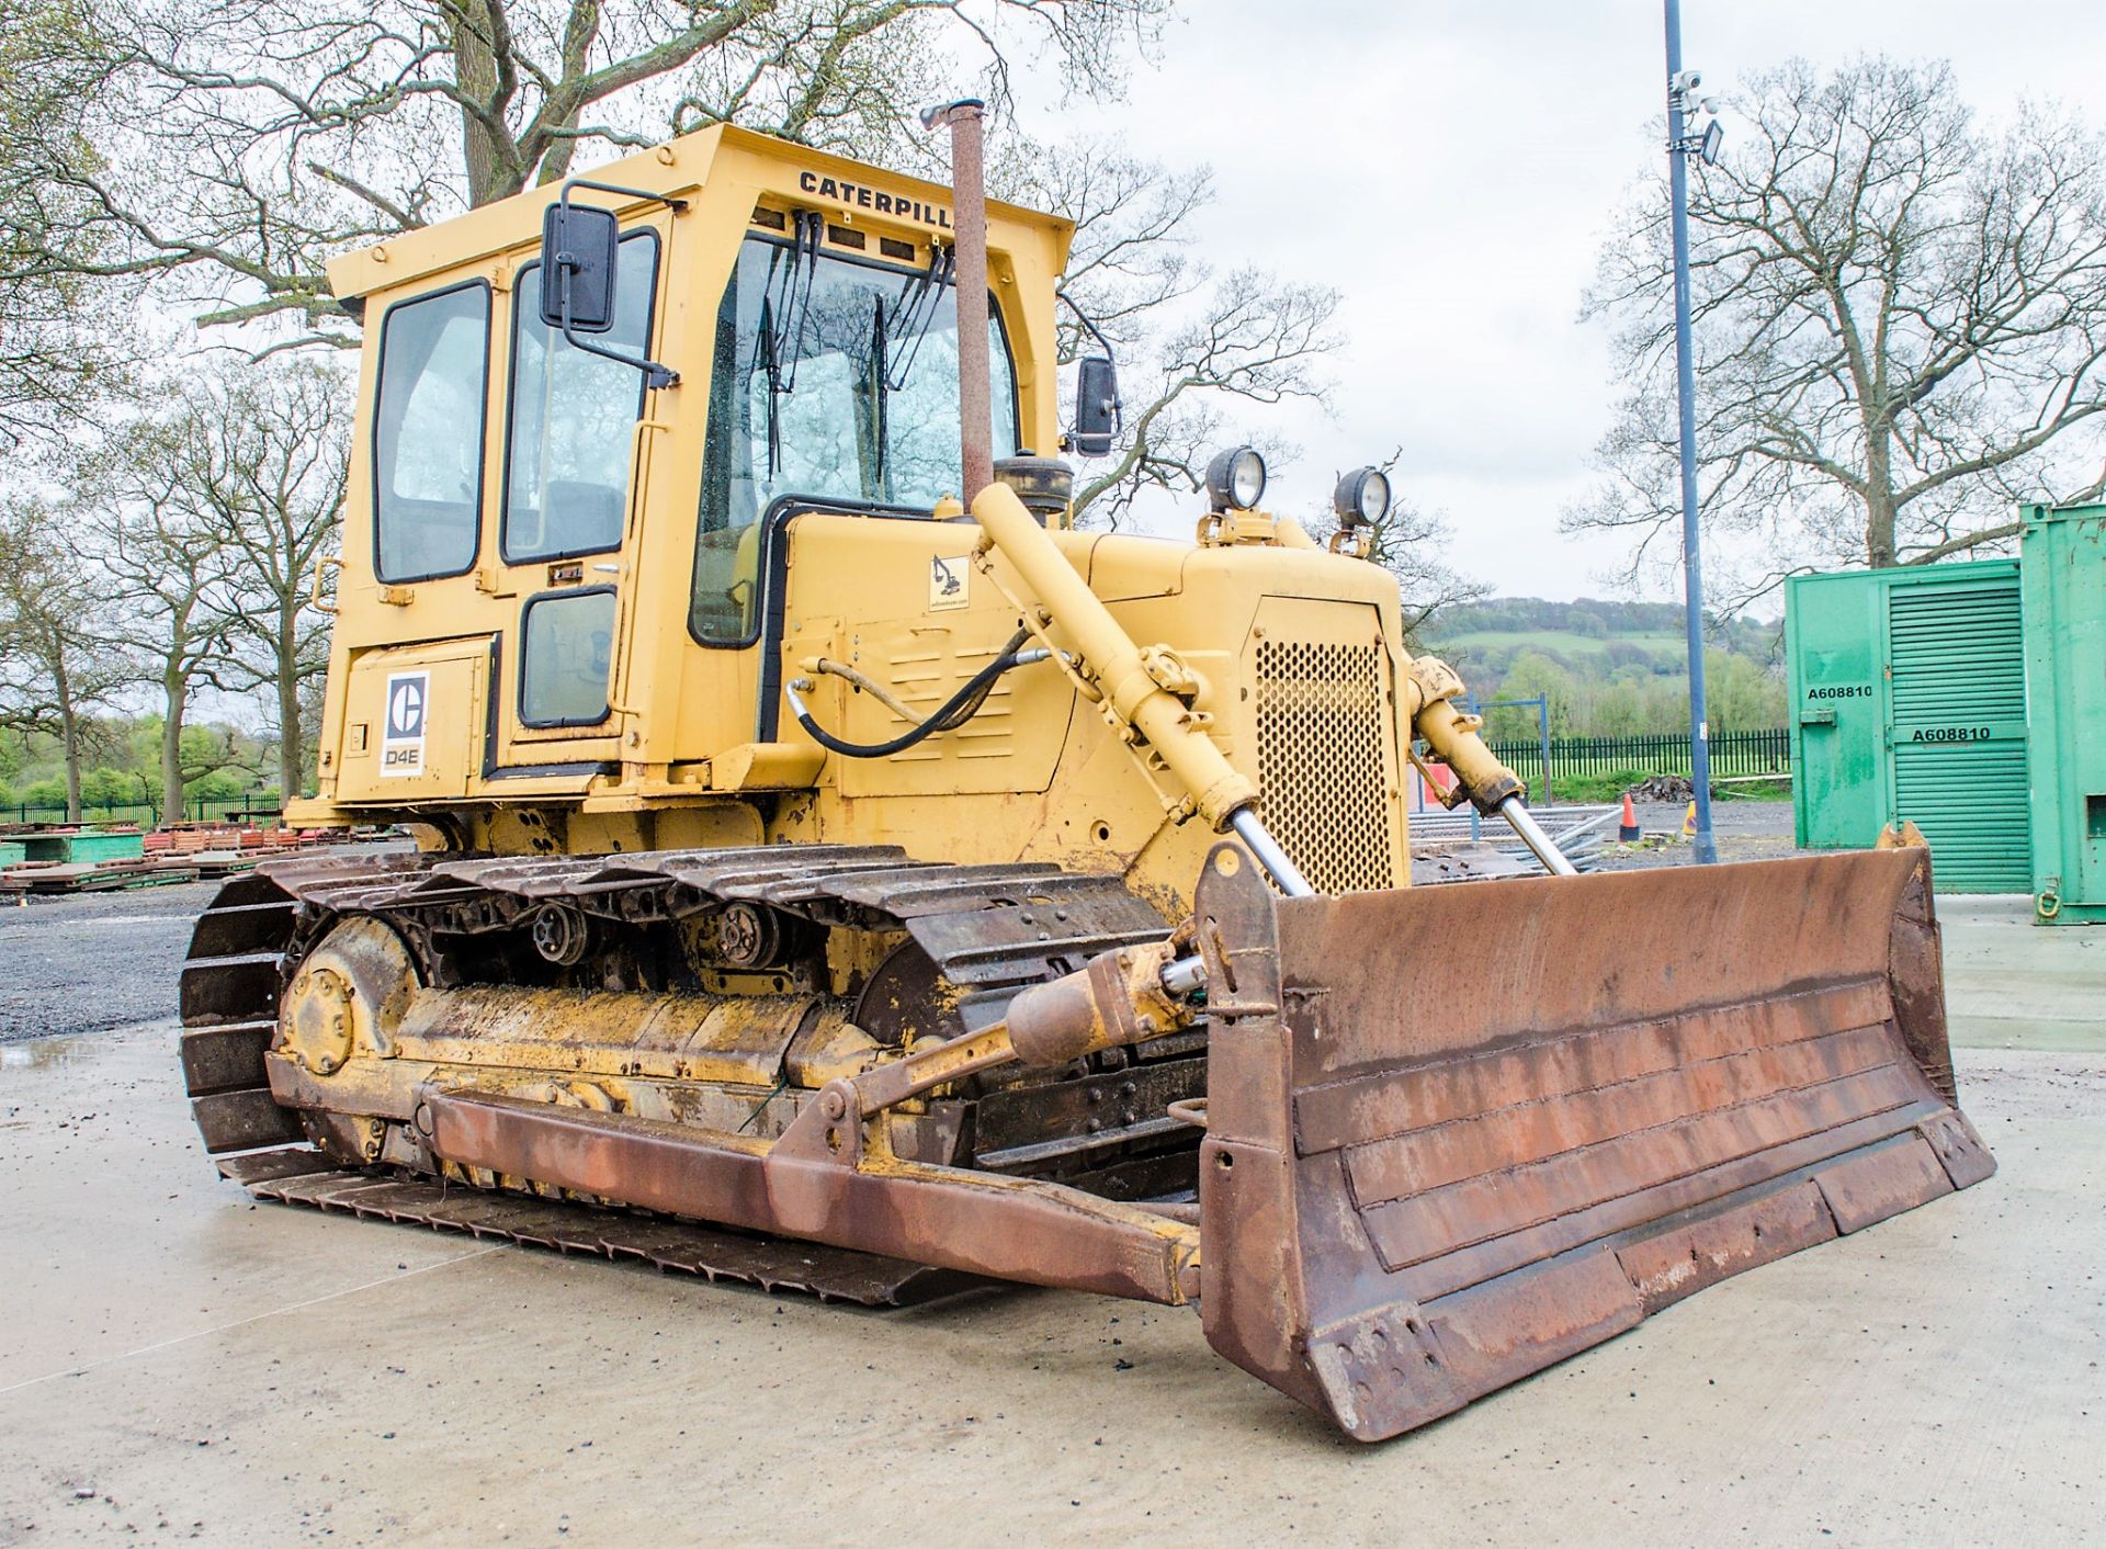
[[[491,287],[398,301],[381,320],[373,400],[373,567],[383,582],[474,569]]]

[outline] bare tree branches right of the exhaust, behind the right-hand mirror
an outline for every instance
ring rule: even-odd
[[[1026,143],[998,181],[1076,226],[1061,365],[1099,348],[1089,327],[1122,356],[1125,436],[1076,487],[1078,518],[1118,527],[1148,489],[1198,489],[1230,409],[1323,398],[1337,291],[1194,261],[1190,221],[1213,200],[1207,169],[1171,171],[1097,141]]]

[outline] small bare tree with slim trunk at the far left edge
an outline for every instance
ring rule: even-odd
[[[103,577],[67,537],[51,506],[0,510],[0,725],[57,738],[65,816],[78,820],[93,717],[139,681],[139,664],[118,639]]]

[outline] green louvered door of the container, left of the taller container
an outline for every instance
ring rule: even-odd
[[[1946,894],[2032,887],[2018,575],[1887,592],[1893,818]]]

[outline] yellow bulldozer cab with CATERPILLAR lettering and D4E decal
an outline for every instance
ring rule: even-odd
[[[322,801],[583,799],[771,742],[788,521],[962,493],[950,228],[946,190],[712,129],[337,259],[369,341]],[[1055,438],[1066,240],[994,207],[998,455]]]

